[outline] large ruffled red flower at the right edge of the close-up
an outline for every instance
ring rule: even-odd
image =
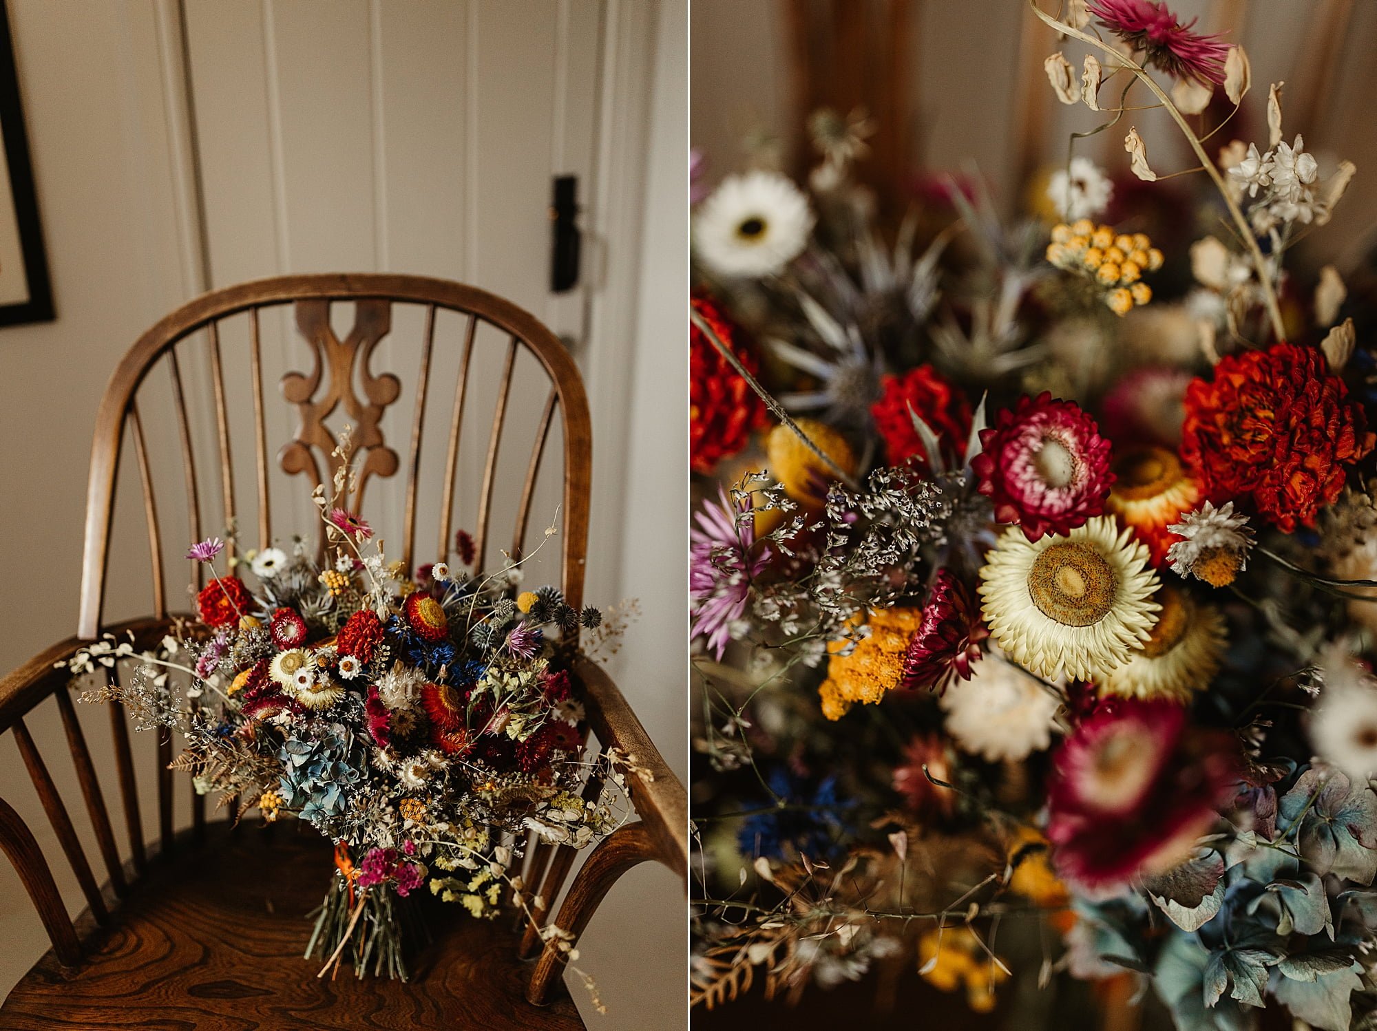
[[[1215,504],[1250,500],[1286,533],[1314,527],[1377,439],[1347,396],[1316,348],[1282,341],[1228,355],[1213,380],[1186,390],[1181,458]]]

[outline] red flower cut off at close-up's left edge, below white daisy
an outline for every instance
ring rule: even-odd
[[[733,337],[731,323],[708,297],[697,296],[693,310],[712,326],[741,363],[756,373],[755,357]],[[688,325],[688,454],[694,472],[711,474],[723,458],[737,454],[750,431],[764,421],[764,403],[712,346],[708,336]]]

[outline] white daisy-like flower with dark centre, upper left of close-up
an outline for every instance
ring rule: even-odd
[[[726,277],[782,271],[803,252],[810,233],[808,198],[775,172],[727,176],[693,220],[698,260]]]

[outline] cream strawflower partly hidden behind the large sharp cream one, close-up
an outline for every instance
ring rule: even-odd
[[[1165,698],[1188,702],[1219,672],[1224,654],[1224,617],[1213,606],[1198,604],[1190,595],[1164,585],[1157,592],[1162,611],[1142,651],[1095,681],[1102,695]]]

